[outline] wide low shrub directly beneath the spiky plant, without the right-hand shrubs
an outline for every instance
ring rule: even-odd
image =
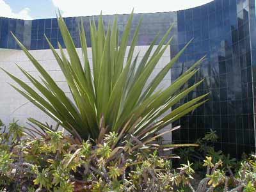
[[[62,132],[14,139],[20,129],[4,133],[13,140],[0,152],[0,188],[6,191],[170,191],[191,173],[186,165],[175,172],[172,156],[163,159],[152,148],[132,150],[132,138],[115,146],[116,134],[111,132],[95,145],[92,140],[77,143]]]

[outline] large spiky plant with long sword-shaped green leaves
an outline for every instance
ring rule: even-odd
[[[60,49],[60,54],[58,54],[51,42],[48,39],[47,41],[67,80],[74,102],[68,99],[60,86],[14,35],[21,49],[40,73],[42,83],[26,72],[24,68],[17,66],[43,96],[24,81],[6,70],[4,71],[22,88],[12,84],[15,90],[53,120],[60,122],[60,125],[71,134],[81,137],[81,139],[97,140],[105,133],[115,132],[117,140],[124,138],[125,135],[132,135],[141,143],[148,143],[162,135],[154,136],[163,127],[170,125],[206,101],[204,100],[206,95],[202,95],[182,104],[168,115],[164,115],[168,109],[179,103],[189,92],[195,90],[196,86],[202,83],[199,81],[193,86],[181,89],[195,75],[198,70],[196,67],[204,58],[197,61],[168,88],[157,90],[159,83],[188,45],[172,61],[166,63],[152,81],[149,81],[154,67],[172,42],[172,37],[168,38],[172,26],[159,41],[156,50],[153,51],[153,47],[157,42],[157,36],[148,47],[142,60],[138,62],[139,54],[134,59],[134,47],[138,42],[140,20],[134,32],[126,60],[125,52],[128,50],[132,17],[133,13],[129,16],[120,40],[118,39],[117,17],[115,17],[112,27],[109,25],[107,29],[104,28],[102,16],[99,17],[98,26],[94,20],[90,21],[93,72],[90,70],[88,61],[88,47],[83,22],[81,22],[80,28],[81,50],[83,52],[83,61],[81,61],[65,21],[61,16],[57,18],[68,55],[65,54],[60,44],[58,44]],[[45,127],[45,129],[51,129],[35,119],[30,119],[30,121]],[[170,131],[174,129],[176,128],[170,129]],[[54,131],[54,129],[50,131]]]

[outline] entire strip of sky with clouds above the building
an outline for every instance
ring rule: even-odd
[[[212,0],[0,0],[0,17],[42,19],[131,13],[172,12],[193,8]]]

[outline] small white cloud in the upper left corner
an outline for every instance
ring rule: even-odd
[[[18,13],[14,13],[9,4],[5,3],[3,0],[0,0],[0,16],[9,17],[15,19],[32,19],[29,16],[29,8],[24,8]]]

